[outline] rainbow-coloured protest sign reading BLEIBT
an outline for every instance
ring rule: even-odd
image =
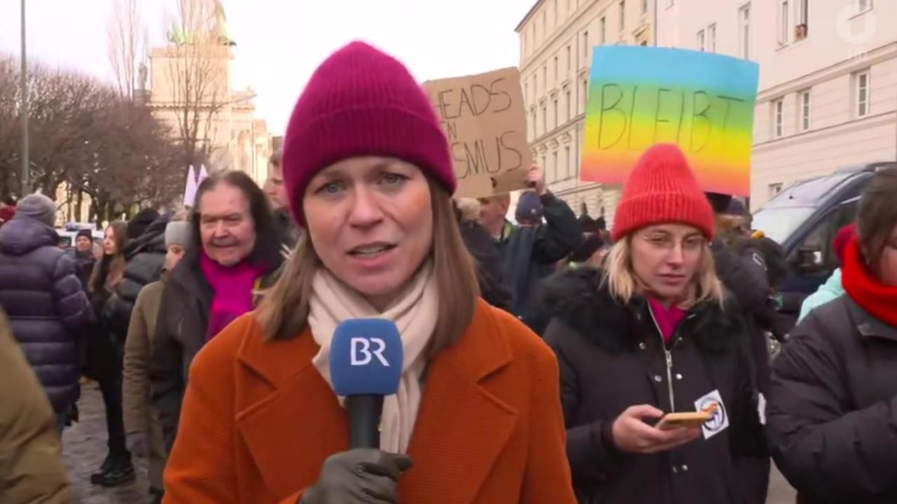
[[[707,191],[748,196],[760,68],[685,49],[595,48],[580,178],[623,184],[654,143],[677,143]]]

